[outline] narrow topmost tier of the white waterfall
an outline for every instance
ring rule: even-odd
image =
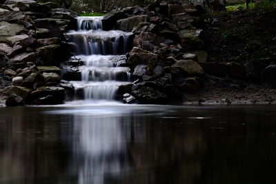
[[[101,19],[103,17],[78,17],[78,30],[102,30]]]

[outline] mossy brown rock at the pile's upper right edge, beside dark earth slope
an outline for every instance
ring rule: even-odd
[[[177,32],[181,41],[181,46],[189,50],[199,50],[204,48],[204,41],[199,39],[201,30],[180,30]]]

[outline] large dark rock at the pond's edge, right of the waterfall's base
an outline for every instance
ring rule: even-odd
[[[132,95],[138,99],[139,103],[145,104],[164,104],[168,99],[166,94],[150,86],[142,86],[137,90],[133,90]]]

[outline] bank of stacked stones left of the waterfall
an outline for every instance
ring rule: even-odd
[[[0,8],[1,102],[6,105],[63,103],[72,86],[61,81],[60,63],[72,53],[63,33],[77,14],[55,3],[7,0]]]

